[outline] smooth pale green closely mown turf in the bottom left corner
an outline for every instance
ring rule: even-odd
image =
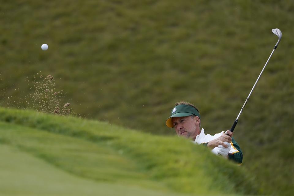
[[[3,131],[3,123],[1,125]],[[6,125],[6,128],[8,126]],[[13,127],[13,128],[12,128]],[[17,129],[17,126],[11,126]],[[7,130],[6,130],[7,131]],[[27,131],[27,130],[26,130]],[[33,134],[32,134],[33,135]],[[0,195],[180,195],[96,182],[72,175],[11,145],[0,144]]]

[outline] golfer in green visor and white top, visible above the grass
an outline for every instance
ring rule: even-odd
[[[200,128],[200,114],[198,109],[189,102],[181,101],[175,104],[171,116],[166,120],[166,126],[175,128],[179,137],[193,140],[197,144],[207,146],[214,154],[234,160],[242,164],[243,155],[238,143],[232,137],[232,132],[227,130],[215,135],[205,134]]]

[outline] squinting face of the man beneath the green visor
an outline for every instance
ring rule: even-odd
[[[175,132],[179,137],[185,137],[195,140],[200,134],[200,119],[198,116],[173,117],[172,123],[175,127]]]

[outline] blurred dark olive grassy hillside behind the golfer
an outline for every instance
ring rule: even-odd
[[[290,1],[4,1],[0,103],[36,109],[32,81],[51,74],[59,102],[82,117],[174,134],[165,119],[187,100],[214,134],[232,126],[280,28],[234,137],[264,193],[291,195],[293,10]]]

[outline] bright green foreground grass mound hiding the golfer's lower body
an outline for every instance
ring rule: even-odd
[[[244,168],[187,140],[34,111],[0,108],[0,116],[2,194],[90,194],[87,187],[103,195],[258,193]]]

